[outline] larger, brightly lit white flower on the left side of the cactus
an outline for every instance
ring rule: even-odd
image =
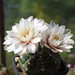
[[[14,51],[22,55],[27,53],[35,53],[38,42],[42,38],[42,32],[46,29],[46,23],[42,19],[30,16],[27,19],[21,19],[19,23],[12,26],[11,31],[6,31],[4,48],[8,52]]]

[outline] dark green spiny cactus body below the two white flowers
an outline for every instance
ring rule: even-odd
[[[59,53],[43,47],[35,54],[25,54],[20,58],[20,67],[26,75],[54,75],[60,69]]]

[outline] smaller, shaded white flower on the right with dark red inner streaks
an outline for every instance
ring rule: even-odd
[[[69,29],[65,29],[65,26],[59,26],[51,21],[48,29],[43,33],[42,41],[53,52],[69,52],[74,45],[74,41],[71,39],[73,35],[70,32]]]

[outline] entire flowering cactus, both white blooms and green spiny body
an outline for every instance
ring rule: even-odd
[[[70,52],[74,45],[70,29],[42,19],[21,19],[6,31],[4,48],[20,56],[19,67],[24,75],[54,75],[61,66],[60,52]],[[17,61],[17,60],[16,60]]]

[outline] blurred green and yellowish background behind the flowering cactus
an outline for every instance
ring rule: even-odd
[[[59,25],[65,25],[66,28],[71,29],[74,35],[72,38],[75,40],[75,0],[4,0],[3,3],[5,31],[11,30],[11,27],[18,23],[21,18],[28,18],[32,15],[36,18],[44,19],[48,23],[53,20]],[[68,64],[73,63],[74,65],[75,60],[72,61],[70,60],[72,58],[66,58],[71,54],[75,55],[75,46],[71,49],[71,52],[63,52],[61,56],[66,59]],[[6,52],[7,68],[12,65],[11,59],[13,55],[13,52]]]

